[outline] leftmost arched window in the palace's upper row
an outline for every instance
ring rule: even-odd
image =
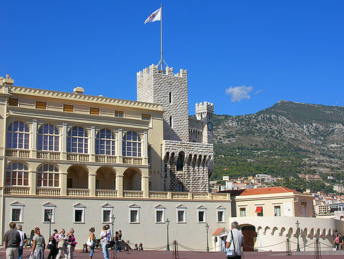
[[[29,149],[30,130],[23,121],[13,121],[7,127],[6,148]]]

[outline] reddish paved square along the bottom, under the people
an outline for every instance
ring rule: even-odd
[[[45,258],[47,258],[49,250],[45,250]],[[110,259],[113,257],[111,256],[110,252]],[[30,249],[24,249],[23,259],[27,259],[28,255],[30,254]],[[224,253],[220,252],[190,252],[190,251],[179,251],[179,259],[226,259]],[[243,258],[253,258],[253,259],[267,259],[270,257],[271,259],[294,259],[294,258],[302,258],[302,259],[314,259],[314,252],[298,252],[292,253],[292,255],[287,256],[283,252],[245,252],[243,254]],[[0,249],[0,258],[6,258],[6,251],[4,248]],[[74,251],[74,258],[81,259],[81,258],[88,258],[88,253],[81,253],[81,250]],[[93,259],[102,259],[103,252],[102,250],[96,250]],[[158,250],[158,251],[137,251],[137,250],[130,250],[130,254],[126,252],[117,253],[118,259],[173,259],[173,251],[165,251],[165,250]],[[334,258],[344,258],[344,250],[341,251],[322,251],[321,252],[322,259],[334,259]]]

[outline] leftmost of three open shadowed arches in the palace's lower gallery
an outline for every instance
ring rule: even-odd
[[[88,189],[88,169],[83,165],[71,165],[67,169],[67,188]]]

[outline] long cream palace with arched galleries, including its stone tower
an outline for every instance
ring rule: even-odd
[[[1,77],[1,240],[11,221],[47,236],[51,214],[52,228],[76,229],[79,247],[91,226],[113,220],[125,240],[164,246],[169,219],[170,240],[205,248],[205,235],[190,232],[228,226],[231,203],[208,192],[214,107],[196,104],[189,119],[187,79],[152,65],[137,74],[139,101],[129,101]]]

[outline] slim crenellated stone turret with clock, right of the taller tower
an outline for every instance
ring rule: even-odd
[[[202,121],[202,143],[212,143],[214,104],[207,101],[196,104],[196,118],[197,120]]]

